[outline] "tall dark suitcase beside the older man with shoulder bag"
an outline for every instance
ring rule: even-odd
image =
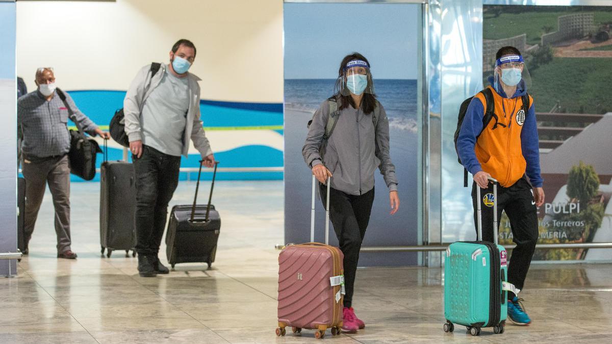
[[[100,245],[102,255],[110,258],[114,250],[125,250],[125,256],[136,246],[136,179],[134,165],[108,161],[100,166]],[[136,251],[132,252],[136,256]]]

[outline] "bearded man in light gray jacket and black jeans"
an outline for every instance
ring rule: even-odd
[[[189,141],[204,165],[212,167],[215,161],[200,119],[200,78],[187,72],[195,55],[192,42],[177,41],[170,64],[160,65],[155,75],[151,65],[143,67],[125,95],[125,133],[136,171],[138,273],[143,277],[169,272],[157,255]]]

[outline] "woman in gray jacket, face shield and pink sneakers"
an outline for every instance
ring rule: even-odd
[[[302,154],[320,182],[324,206],[330,178],[330,219],[344,254],[342,329],[355,333],[365,326],[352,307],[353,286],[374,201],[376,168],[389,189],[390,214],[400,206],[395,166],[389,155],[389,120],[376,100],[370,63],[361,54],[342,59],[335,94],[315,112]]]

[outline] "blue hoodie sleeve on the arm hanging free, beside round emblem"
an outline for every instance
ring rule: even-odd
[[[542,187],[543,179],[540,175],[540,147],[537,136],[537,123],[535,121],[535,107],[533,103],[527,111],[527,116],[521,130],[521,149],[527,162],[526,173],[534,187]]]

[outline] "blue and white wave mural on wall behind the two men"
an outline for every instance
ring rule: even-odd
[[[84,114],[108,130],[116,110],[123,107],[125,91],[67,91]],[[239,103],[202,100],[200,102],[206,136],[220,164],[219,180],[283,179],[283,105],[282,103]],[[103,140],[96,138],[100,146]],[[108,159],[122,160],[123,147],[108,141]],[[131,157],[129,157],[131,160]],[[181,180],[198,178],[200,153],[190,146],[188,159],[181,161]],[[97,157],[97,165],[103,155]],[[204,169],[203,180],[212,178]],[[94,181],[99,181],[99,174]],[[72,181],[83,181],[72,176]]]

